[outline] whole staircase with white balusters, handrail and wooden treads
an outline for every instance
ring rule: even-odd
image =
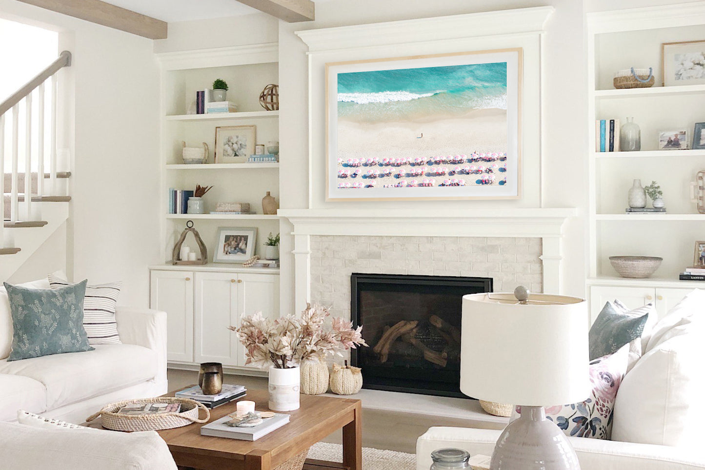
[[[71,66],[68,51],[0,103],[0,280],[68,219],[65,181],[71,173],[56,168],[57,83],[66,66]]]

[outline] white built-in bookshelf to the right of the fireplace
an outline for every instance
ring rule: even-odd
[[[673,6],[588,13],[589,277],[591,313],[614,298],[655,301],[659,313],[701,282],[681,282],[692,265],[694,241],[705,239],[705,215],[690,202],[689,182],[705,169],[705,150],[658,150],[658,132],[705,121],[705,85],[664,87],[661,44],[705,40],[705,2],[687,15]],[[625,68],[654,70],[652,88],[615,90],[614,73]],[[639,152],[595,152],[595,121],[633,117],[641,129]],[[657,181],[665,214],[625,214],[633,179]],[[649,200],[649,203],[651,201]],[[613,270],[612,255],[663,258],[653,278],[625,279]],[[642,295],[643,294],[643,295]],[[659,304],[661,303],[661,304]]]

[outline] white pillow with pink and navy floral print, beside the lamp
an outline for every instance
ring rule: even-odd
[[[563,429],[565,435],[579,438],[610,439],[612,415],[619,385],[627,373],[629,344],[614,354],[590,362],[592,391],[580,403],[546,406],[546,418]]]

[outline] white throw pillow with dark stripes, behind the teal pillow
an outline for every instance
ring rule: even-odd
[[[88,343],[121,344],[118,335],[118,324],[115,321],[115,306],[122,282],[86,286],[86,296],[83,301],[83,327],[88,335]],[[49,275],[51,289],[71,285],[70,282]]]

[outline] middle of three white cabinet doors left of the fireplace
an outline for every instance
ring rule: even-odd
[[[228,326],[238,326],[238,275],[197,272],[195,283],[195,361],[238,366],[243,348]]]

